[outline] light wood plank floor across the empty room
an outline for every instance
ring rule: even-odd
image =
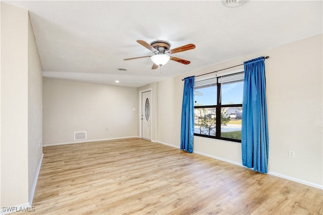
[[[322,214],[321,189],[140,138],[43,153],[28,214]]]

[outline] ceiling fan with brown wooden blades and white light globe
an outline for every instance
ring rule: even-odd
[[[170,50],[171,44],[169,42],[164,41],[164,40],[153,41],[150,44],[143,41],[143,40],[137,40],[137,43],[139,43],[140,45],[142,45],[145,48],[152,51],[154,53],[154,55],[147,55],[147,56],[142,56],[142,57],[132,57],[132,58],[124,59],[124,60],[133,60],[133,59],[138,59],[138,58],[150,57],[150,59],[153,62],[151,69],[157,68],[158,65],[159,66],[165,65],[169,60],[174,60],[176,62],[183,63],[183,64],[189,64],[190,61],[184,60],[184,59],[181,59],[178,57],[173,57],[173,56],[170,56],[169,54],[174,54],[174,53],[178,53],[181,51],[187,51],[187,50],[195,48],[194,44],[187,44],[187,45],[183,45],[183,46],[173,48]]]

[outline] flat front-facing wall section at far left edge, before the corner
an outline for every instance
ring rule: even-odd
[[[28,203],[27,20],[1,3],[1,206]]]

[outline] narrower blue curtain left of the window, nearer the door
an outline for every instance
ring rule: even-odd
[[[194,136],[194,76],[184,79],[181,150],[193,152]]]

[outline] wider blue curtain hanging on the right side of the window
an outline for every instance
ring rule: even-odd
[[[264,57],[244,62],[242,164],[267,173],[268,126]]]

